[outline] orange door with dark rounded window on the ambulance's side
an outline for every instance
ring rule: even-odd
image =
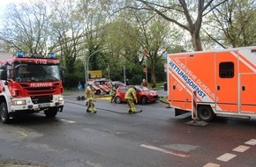
[[[215,110],[222,113],[237,113],[237,51],[215,52],[215,69]]]

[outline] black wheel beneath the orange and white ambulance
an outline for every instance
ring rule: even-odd
[[[198,109],[198,118],[209,122],[215,118],[215,113],[209,105],[200,105]]]

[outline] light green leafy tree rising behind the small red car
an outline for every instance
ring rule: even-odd
[[[124,17],[126,14],[125,11],[113,18],[104,28],[104,46],[109,48],[105,62],[109,62],[110,77],[114,80],[123,79],[124,66],[130,79],[137,73],[135,70],[140,69],[138,35],[136,28]]]

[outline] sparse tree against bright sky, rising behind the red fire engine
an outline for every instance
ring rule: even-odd
[[[51,17],[49,7],[43,1],[10,4],[5,13],[0,39],[15,50],[29,54],[48,54]]]

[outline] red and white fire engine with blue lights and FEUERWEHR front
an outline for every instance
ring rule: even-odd
[[[1,55],[1,57],[4,57]],[[0,58],[1,58],[0,57]],[[0,62],[0,113],[4,123],[20,113],[55,117],[64,107],[63,72],[54,54],[25,56],[18,52]]]

